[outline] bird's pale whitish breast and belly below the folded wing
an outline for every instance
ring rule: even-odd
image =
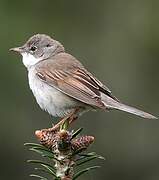
[[[36,76],[31,68],[28,73],[29,86],[39,106],[53,116],[63,117],[79,106],[79,101],[47,85]],[[81,103],[82,104],[82,103]]]

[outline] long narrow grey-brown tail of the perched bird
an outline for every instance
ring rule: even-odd
[[[147,119],[158,119],[157,117],[155,117],[147,112],[144,112],[137,108],[122,104],[105,94],[102,94],[102,102],[105,104],[105,106],[108,109],[117,109],[117,110],[125,111],[125,112],[135,114],[137,116],[147,118]]]

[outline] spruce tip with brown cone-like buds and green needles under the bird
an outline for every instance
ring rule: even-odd
[[[47,161],[44,162],[41,160],[28,160],[27,162],[39,165],[35,170],[47,173],[52,177],[51,179],[75,180],[82,174],[99,166],[87,167],[76,172],[77,167],[81,167],[83,164],[97,158],[104,159],[95,152],[85,152],[94,142],[94,137],[80,135],[83,128],[69,131],[68,128],[71,122],[66,118],[52,128],[35,131],[35,136],[40,144],[25,143],[30,151],[47,158]],[[30,176],[41,180],[48,179],[36,174]]]

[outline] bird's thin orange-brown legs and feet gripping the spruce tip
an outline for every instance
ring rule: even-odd
[[[56,131],[60,128],[60,126],[65,122],[68,121],[68,124],[70,125],[73,123],[77,118],[77,113],[79,112],[79,108],[76,108],[71,113],[69,113],[67,116],[63,117],[57,124],[55,124],[52,128],[50,128],[51,131]]]

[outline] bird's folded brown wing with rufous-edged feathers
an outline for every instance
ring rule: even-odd
[[[66,71],[65,69],[41,68],[38,69],[37,75],[50,86],[91,106],[105,108],[101,101],[101,92],[114,98],[100,81],[84,69],[73,68]]]

